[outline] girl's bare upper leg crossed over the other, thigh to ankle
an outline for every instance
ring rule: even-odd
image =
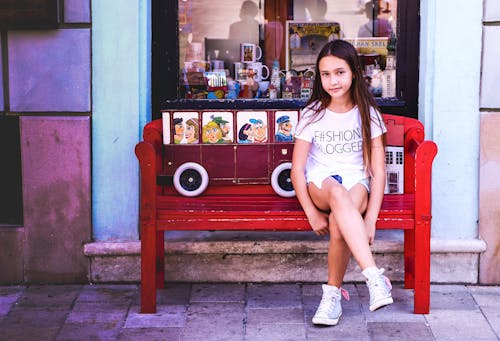
[[[358,262],[361,270],[364,270],[375,266],[375,261],[370,245],[368,244],[365,224],[359,209],[361,205],[359,200],[364,197],[361,200],[364,202],[364,205],[366,205],[367,201],[365,189],[362,189],[365,191],[364,196],[358,193],[358,191],[361,191],[361,189],[358,189],[360,186],[354,186],[352,191],[349,192],[337,181],[327,178],[323,181],[321,189],[314,185],[314,183],[310,183],[308,189],[311,199],[319,209],[332,211],[340,235]],[[335,233],[335,231],[333,232]],[[339,247],[343,248],[341,244],[339,244]],[[345,261],[345,258],[341,258],[341,260]],[[343,263],[338,265],[338,269],[340,270],[341,266],[343,267]]]

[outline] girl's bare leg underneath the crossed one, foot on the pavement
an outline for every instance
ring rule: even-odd
[[[367,192],[361,185],[354,186],[350,191],[352,201],[357,205],[358,211],[363,213],[367,204]],[[338,224],[332,213],[329,216],[330,244],[328,248],[328,284],[340,288],[351,258],[351,251],[339,230]]]

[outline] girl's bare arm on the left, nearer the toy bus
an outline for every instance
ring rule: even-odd
[[[328,233],[328,215],[319,211],[309,196],[307,190],[305,169],[307,155],[309,154],[309,149],[311,148],[311,143],[306,142],[301,139],[295,140],[295,145],[293,147],[293,157],[292,157],[292,170],[291,179],[293,188],[295,190],[295,195],[304,210],[311,228],[318,235],[324,235]]]

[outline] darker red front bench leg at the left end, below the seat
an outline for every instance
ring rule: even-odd
[[[145,225],[145,224],[144,224]],[[156,231],[141,226],[141,313],[156,313]]]

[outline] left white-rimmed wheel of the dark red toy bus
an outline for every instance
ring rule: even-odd
[[[186,197],[195,197],[208,186],[208,173],[202,165],[195,162],[182,164],[174,173],[174,187]]]

